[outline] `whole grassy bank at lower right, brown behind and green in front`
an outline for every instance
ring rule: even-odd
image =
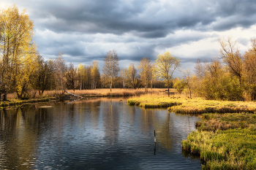
[[[256,115],[204,114],[182,148],[200,154],[203,169],[256,169]]]

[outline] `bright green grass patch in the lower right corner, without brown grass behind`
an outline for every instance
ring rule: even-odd
[[[237,128],[227,131],[193,131],[182,147],[200,153],[203,169],[256,169],[256,131]]]

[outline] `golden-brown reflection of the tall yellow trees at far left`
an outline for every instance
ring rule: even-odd
[[[35,124],[38,123],[38,115],[33,110],[28,112],[28,108],[0,111],[0,136],[5,151],[0,154],[1,160],[4,160],[0,162],[1,167],[27,169],[34,161],[34,145],[38,137],[38,125]]]

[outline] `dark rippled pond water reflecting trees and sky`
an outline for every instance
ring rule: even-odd
[[[0,169],[201,169],[181,150],[197,117],[120,98],[52,105],[0,111]]]

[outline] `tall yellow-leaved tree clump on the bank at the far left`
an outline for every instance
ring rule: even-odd
[[[27,82],[35,66],[31,62],[36,58],[36,46],[31,43],[33,30],[34,23],[29,20],[26,10],[19,12],[15,4],[1,10],[0,87],[4,90],[4,100],[7,100],[10,85],[13,85],[18,97],[26,93]]]

